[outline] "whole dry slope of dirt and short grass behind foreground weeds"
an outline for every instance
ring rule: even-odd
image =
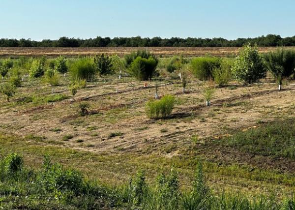
[[[216,190],[285,195],[295,189],[292,158],[220,143],[237,131],[293,117],[293,85],[277,91],[271,84],[230,84],[217,89],[212,105],[206,107],[204,82],[191,78],[187,92],[182,93],[179,80],[163,80],[159,94],[175,95],[177,105],[168,119],[149,120],[144,107],[154,94],[155,82],[144,88],[143,82],[130,78],[98,79],[79,90],[72,101],[68,78],[62,79],[55,88],[25,80],[9,103],[0,96],[2,152],[17,151],[32,167],[47,152],[89,177],[116,184],[140,168],[153,179],[175,167],[185,186],[192,179],[195,162],[202,159]],[[90,115],[77,115],[82,101],[89,102]]]

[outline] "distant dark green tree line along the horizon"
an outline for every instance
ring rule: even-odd
[[[79,39],[60,37],[58,40],[44,39],[0,39],[0,47],[241,47],[244,44],[256,43],[261,47],[295,46],[295,36],[282,38],[280,35],[268,34],[256,38],[142,38],[136,37],[100,37]]]

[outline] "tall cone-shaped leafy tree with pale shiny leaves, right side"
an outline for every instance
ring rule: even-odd
[[[233,76],[238,81],[253,83],[266,77],[266,67],[257,45],[245,45],[232,66]]]

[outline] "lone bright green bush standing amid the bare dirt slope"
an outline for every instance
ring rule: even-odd
[[[165,95],[160,100],[149,100],[146,104],[147,117],[152,118],[166,118],[169,116],[174,108],[175,97],[172,95]]]

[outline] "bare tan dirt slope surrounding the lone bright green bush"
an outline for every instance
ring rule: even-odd
[[[50,94],[50,87],[40,89],[38,85],[20,88],[19,95],[12,101],[29,94]],[[119,93],[115,92],[117,86]],[[148,83],[148,88],[143,88],[143,82],[94,83],[79,90],[74,102],[65,99],[40,105],[16,102],[8,105],[1,96],[0,132],[28,140],[39,138],[46,145],[96,153],[135,152],[167,157],[181,155],[197,141],[199,152],[209,158],[213,156],[213,159],[231,162],[243,159],[250,163],[253,158],[240,155],[240,152],[237,155],[233,150],[210,148],[209,142],[233,130],[257,126],[259,121],[294,116],[293,85],[285,85],[283,91],[277,91],[276,85],[270,84],[233,84],[217,89],[212,105],[206,107],[203,82],[190,82],[183,94],[176,80],[163,81],[159,88],[161,95],[177,97],[172,116],[166,120],[149,120],[145,115],[145,102],[153,96],[153,86],[152,82]],[[59,86],[54,91],[69,95],[66,86]],[[90,110],[95,114],[78,116],[77,105],[81,101],[89,102]],[[65,139],[67,135],[71,138]],[[271,161],[268,161],[269,165]],[[278,162],[275,168],[280,167]]]

